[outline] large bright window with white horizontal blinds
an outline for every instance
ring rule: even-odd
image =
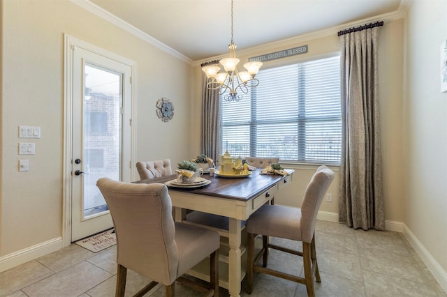
[[[233,156],[339,163],[339,56],[261,70],[239,102],[222,100],[222,150]]]

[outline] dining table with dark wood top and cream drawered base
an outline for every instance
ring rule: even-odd
[[[261,174],[261,169],[240,176],[203,174],[198,186],[182,186],[177,175],[150,178],[134,183],[164,183],[168,186],[175,221],[214,229],[221,236],[219,286],[230,296],[240,296],[241,281],[247,270],[244,222],[274,194],[291,183],[293,169],[286,175]],[[190,275],[209,281],[209,264],[199,264]],[[209,269],[209,268],[208,268]]]

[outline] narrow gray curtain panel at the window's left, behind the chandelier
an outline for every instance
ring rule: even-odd
[[[221,154],[221,104],[219,90],[207,89],[207,82],[203,73],[201,150],[216,164]]]

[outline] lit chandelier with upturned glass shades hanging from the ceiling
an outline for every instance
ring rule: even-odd
[[[239,101],[242,99],[242,95],[237,95],[238,89],[242,93],[248,93],[248,87],[253,88],[259,84],[259,80],[255,76],[263,63],[259,61],[244,63],[244,68],[247,71],[239,72],[237,70],[237,63],[239,63],[240,59],[236,58],[236,45],[233,42],[233,0],[231,0],[231,43],[228,45],[228,48],[230,49],[230,57],[219,61],[224,71],[219,72],[221,68],[217,65],[205,66],[202,70],[211,79],[207,83],[207,89],[219,89],[221,95],[228,90],[229,95],[225,94],[223,99],[226,101]]]

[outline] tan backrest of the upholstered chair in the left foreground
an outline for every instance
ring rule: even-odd
[[[168,188],[161,183],[122,183],[100,178],[117,236],[117,264],[151,280],[177,278],[178,252]]]

